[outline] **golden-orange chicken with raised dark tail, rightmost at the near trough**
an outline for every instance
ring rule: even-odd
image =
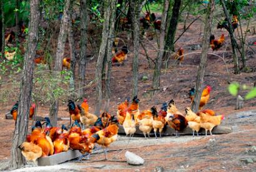
[[[97,133],[91,136],[94,138],[99,138],[97,140],[97,144],[101,145],[102,148],[104,148],[105,160],[107,156],[106,148],[109,147],[111,143],[117,140],[117,133],[119,130],[117,123],[117,118],[112,118],[111,124],[108,127],[104,128],[103,130],[97,131]]]

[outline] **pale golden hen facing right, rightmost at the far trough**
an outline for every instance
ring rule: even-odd
[[[224,120],[224,115],[210,116],[205,113],[200,113],[200,126],[205,129],[205,136],[207,136],[207,131],[210,131],[212,135],[212,129],[220,125],[221,120]]]

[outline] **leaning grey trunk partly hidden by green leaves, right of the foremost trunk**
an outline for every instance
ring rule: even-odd
[[[71,0],[65,1],[64,12],[61,18],[61,28],[59,30],[59,37],[55,55],[54,71],[59,74],[62,70],[62,58],[64,56],[64,48],[67,38],[67,28],[69,24],[69,7]],[[49,118],[53,126],[57,125],[57,114],[59,110],[59,100],[52,95],[52,103],[50,107]]]

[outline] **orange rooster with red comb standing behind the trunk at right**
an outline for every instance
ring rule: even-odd
[[[199,104],[199,110],[201,110],[207,102],[209,102],[210,99],[210,92],[212,91],[212,87],[210,87],[210,85],[207,85],[201,95],[201,99],[200,99],[200,104]],[[191,90],[189,90],[189,97],[191,100],[191,103],[194,101],[194,95],[195,95],[195,89],[191,88]]]

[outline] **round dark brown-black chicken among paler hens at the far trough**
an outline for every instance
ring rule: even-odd
[[[185,117],[179,114],[170,115],[167,123],[171,128],[174,128],[176,136],[179,136],[179,131],[184,130],[188,125]]]

